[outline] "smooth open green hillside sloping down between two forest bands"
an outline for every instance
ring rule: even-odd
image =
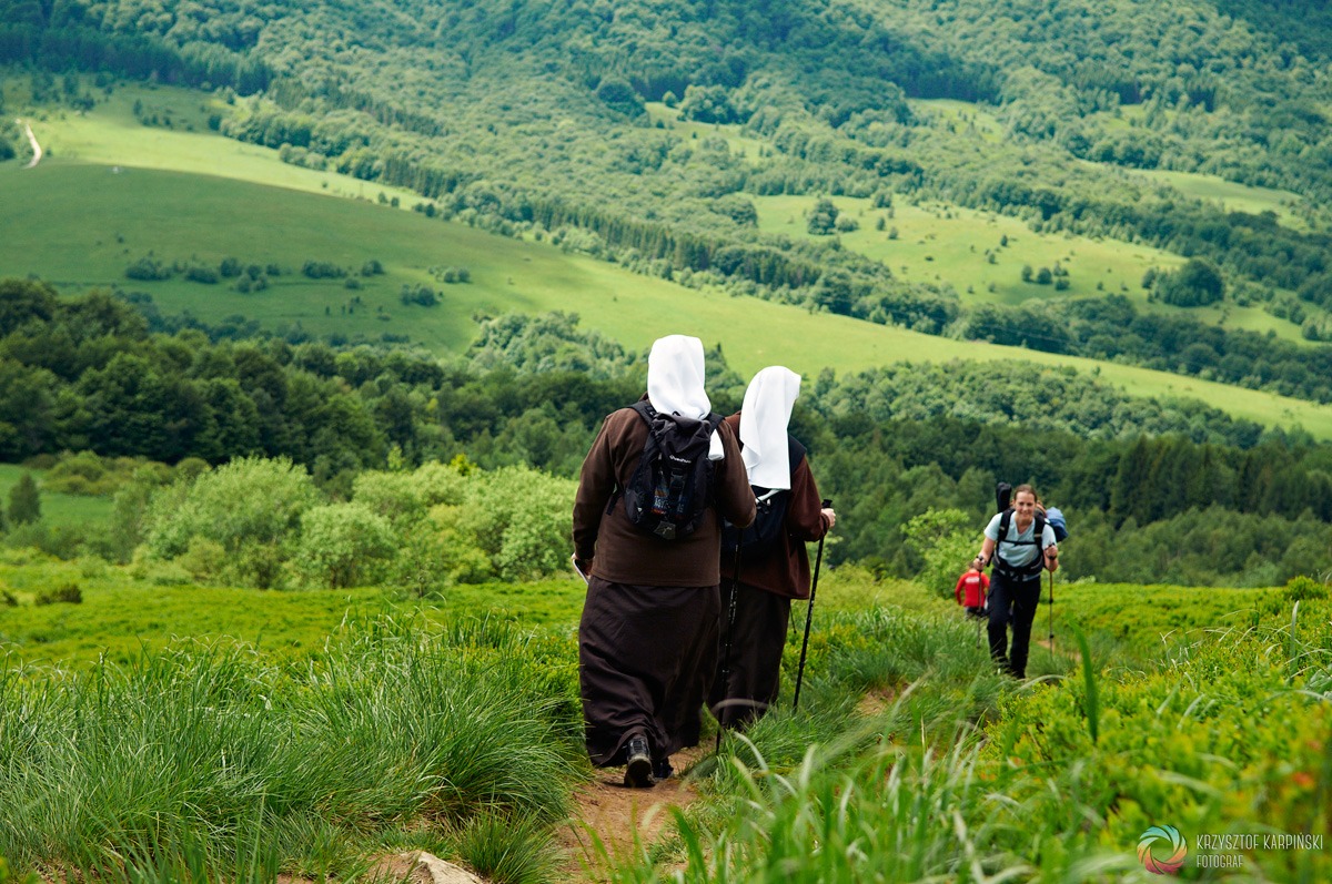
[[[147,293],[163,313],[188,313],[214,326],[254,321],[268,330],[300,329],[334,341],[402,341],[461,351],[476,334],[477,314],[561,309],[634,350],[667,330],[698,335],[709,346],[719,345],[745,377],[774,362],[813,378],[825,367],[846,374],[900,361],[1031,359],[1096,374],[1134,395],[1199,398],[1237,418],[1300,425],[1316,438],[1332,438],[1332,406],[698,292],[549,244],[441,224],[369,201],[63,161],[0,176],[0,194],[15,206],[13,232],[0,244],[0,276],[27,268],[24,273],[35,272],[69,292]],[[144,205],[155,210],[144,213]],[[164,280],[125,276],[127,268],[149,257],[181,269]],[[218,274],[212,282],[189,277],[192,268],[214,269],[228,258],[274,273],[265,276],[265,289],[248,293],[237,290],[244,274]],[[360,268],[370,261],[382,273],[361,277]],[[306,262],[342,268],[346,276],[312,278],[302,272]],[[445,265],[466,268],[470,281],[440,282],[430,268]],[[348,280],[356,288],[348,288]],[[437,306],[404,302],[404,288],[421,286],[437,293]]]

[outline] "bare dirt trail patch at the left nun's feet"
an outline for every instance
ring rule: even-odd
[[[622,768],[598,771],[595,780],[575,792],[577,811],[559,835],[559,843],[569,857],[563,880],[606,880],[605,861],[595,847],[594,835],[614,860],[633,853],[635,832],[645,847],[661,837],[671,823],[670,808],[687,807],[698,797],[687,771],[710,752],[710,746],[698,746],[675,754],[671,756],[675,776],[650,789],[626,788]]]

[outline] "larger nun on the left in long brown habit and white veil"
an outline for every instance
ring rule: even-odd
[[[670,335],[653,345],[647,397],[662,414],[702,419],[703,345]],[[578,676],[587,755],[625,766],[625,784],[651,785],[670,756],[699,740],[717,667],[721,522],[754,521],[739,445],[722,425],[711,439],[714,506],[690,535],[663,541],[629,522],[615,497],[638,466],[647,423],[629,407],[606,417],[583,461],[574,499],[574,559],[587,575],[578,624]],[[609,509],[609,511],[607,511]]]

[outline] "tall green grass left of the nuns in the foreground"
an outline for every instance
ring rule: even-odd
[[[539,843],[581,770],[554,647],[377,620],[294,668],[182,643],[0,672],[0,855],[112,880],[345,876],[377,832],[496,812]]]

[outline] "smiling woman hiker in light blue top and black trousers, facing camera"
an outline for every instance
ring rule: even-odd
[[[1012,507],[996,513],[986,526],[984,542],[972,564],[980,570],[991,563],[990,656],[1010,675],[1023,679],[1031,624],[1040,604],[1040,575],[1059,570],[1055,529],[1030,485],[1014,489]],[[1012,646],[1004,654],[1010,619]]]

